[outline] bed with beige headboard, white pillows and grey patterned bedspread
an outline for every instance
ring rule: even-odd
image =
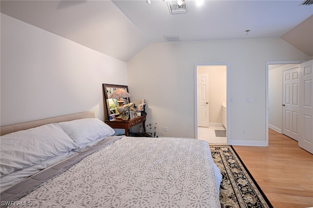
[[[112,136],[94,117],[1,126],[1,207],[221,207],[207,142]]]

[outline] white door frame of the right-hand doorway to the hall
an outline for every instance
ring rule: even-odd
[[[266,131],[266,146],[268,146],[268,65],[273,64],[300,64],[302,62],[305,62],[305,60],[294,60],[294,61],[268,61],[266,62],[266,96],[265,96],[265,131]]]

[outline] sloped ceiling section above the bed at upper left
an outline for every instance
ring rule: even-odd
[[[1,13],[125,62],[150,43],[110,0],[1,0]]]

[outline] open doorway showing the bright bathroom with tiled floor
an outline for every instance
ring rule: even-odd
[[[196,64],[196,138],[227,144],[227,64]]]

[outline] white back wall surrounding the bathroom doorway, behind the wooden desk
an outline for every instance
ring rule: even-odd
[[[152,43],[128,62],[128,85],[132,102],[146,98],[147,122],[158,124],[158,135],[194,138],[194,64],[228,62],[229,97],[234,98],[227,106],[228,141],[265,145],[266,62],[308,59],[281,39]]]

